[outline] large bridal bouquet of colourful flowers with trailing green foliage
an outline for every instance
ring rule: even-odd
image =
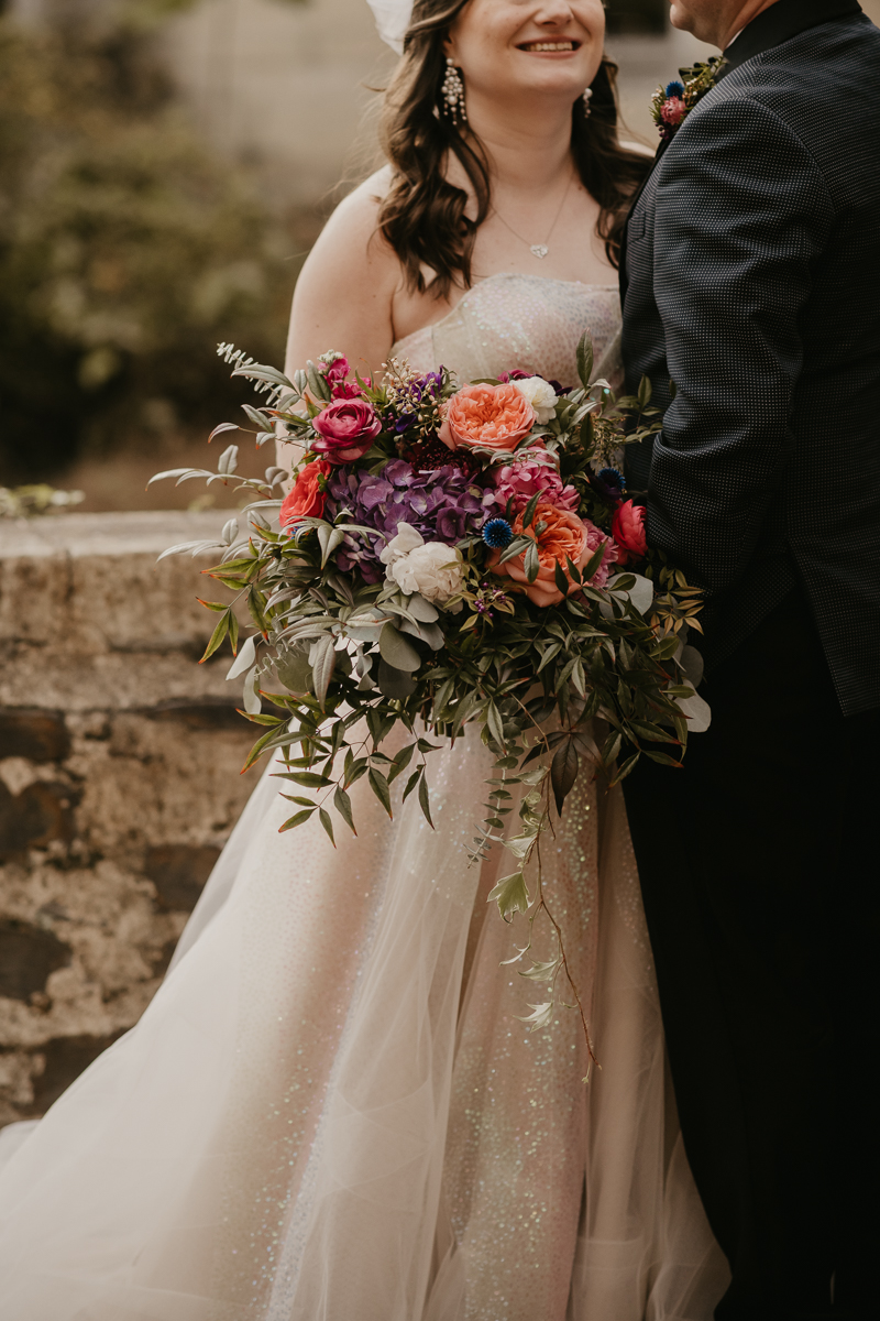
[[[243,713],[263,727],[245,766],[281,749],[296,808],[282,830],[317,814],[332,840],[332,812],[355,830],[361,777],[389,815],[406,777],[404,799],[417,794],[430,822],[431,740],[475,725],[495,766],[472,857],[507,845],[516,867],[492,897],[533,921],[545,905],[526,864],[584,766],[612,783],[640,757],[676,766],[689,724],[705,728],[699,655],[685,645],[699,593],[648,555],[644,510],[615,466],[621,444],[657,429],[648,383],[616,400],[591,382],[586,336],[574,388],[522,371],[462,383],[404,362],[379,382],[338,353],[288,379],[220,353],[268,396],[245,407],[257,445],[282,439],[298,454],[292,473],[240,481],[256,499],[219,542],[165,552],[223,551],[203,572],[234,600],[203,602],[218,614],[203,659],[228,638]],[[153,481],[230,482],[236,464],[231,445],[215,473]],[[396,727],[409,737],[391,756]],[[554,984],[562,962],[548,966]],[[538,1008],[534,1026],[553,1000]]]

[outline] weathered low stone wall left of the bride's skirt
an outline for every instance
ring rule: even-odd
[[[0,1124],[137,1021],[260,774],[210,560],[156,563],[222,519],[0,522]]]

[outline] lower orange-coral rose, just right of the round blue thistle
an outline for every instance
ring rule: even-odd
[[[513,524],[516,536],[522,535],[522,515],[520,514]],[[536,605],[557,605],[562,600],[562,592],[557,587],[557,564],[569,580],[569,590],[578,590],[578,584],[573,583],[567,560],[582,569],[587,560],[599,550],[606,547],[606,553],[596,572],[590,579],[591,587],[604,587],[608,579],[608,569],[617,559],[617,548],[613,542],[600,532],[594,523],[584,523],[577,514],[567,509],[557,509],[555,505],[537,505],[532,526],[525,530],[525,535],[538,544],[538,561],[541,568],[534,583],[529,583],[525,575],[525,555],[517,555],[504,564],[499,564],[500,551],[493,551],[489,556],[489,567],[495,573],[507,575],[520,584],[529,601]]]

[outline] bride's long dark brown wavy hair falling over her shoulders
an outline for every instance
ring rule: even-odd
[[[491,176],[482,143],[438,112],[446,74],[443,41],[467,0],[416,0],[404,55],[384,96],[381,144],[393,176],[379,210],[379,230],[404,267],[406,285],[424,293],[422,268],[435,272],[431,292],[449,297],[471,285],[476,231],[489,214]],[[571,155],[581,181],[599,203],[599,238],[619,264],[623,226],[649,160],[617,141],[617,66],[603,57],[592,81],[591,114],[578,96],[571,107]],[[468,196],[446,178],[453,153],[476,198],[476,219],[464,214]]]

